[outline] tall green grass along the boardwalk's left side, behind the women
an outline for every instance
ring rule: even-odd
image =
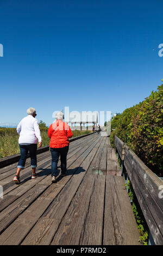
[[[18,135],[16,133],[16,130],[15,132],[9,132],[8,129],[5,130],[6,132],[3,131],[2,134],[0,129],[0,158],[20,153],[20,148],[18,146]],[[42,147],[49,145],[50,139],[48,137],[47,130],[41,129],[40,131],[42,137]],[[77,137],[86,133],[90,133],[91,131],[74,130],[72,132],[73,137]]]

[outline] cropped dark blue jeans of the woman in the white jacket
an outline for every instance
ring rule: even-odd
[[[28,150],[30,154],[30,159],[31,159],[31,167],[35,168],[37,166],[37,144],[29,144],[29,145],[20,145],[20,151],[21,151],[21,157],[20,160],[18,161],[18,166],[17,168],[24,169],[27,155],[28,155]]]

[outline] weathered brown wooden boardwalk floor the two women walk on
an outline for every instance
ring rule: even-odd
[[[71,142],[67,174],[53,184],[49,151],[37,155],[36,179],[27,159],[21,184],[14,184],[16,167],[0,169],[0,245],[139,245],[109,137],[95,134]]]

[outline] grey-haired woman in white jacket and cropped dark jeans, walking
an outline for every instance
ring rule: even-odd
[[[27,117],[24,117],[17,125],[17,133],[19,136],[18,144],[20,147],[21,157],[18,161],[17,172],[14,176],[16,184],[20,183],[20,171],[24,169],[28,150],[31,159],[32,167],[32,179],[36,178],[36,166],[37,166],[37,139],[39,141],[39,148],[42,146],[42,139],[40,135],[39,124],[36,117],[36,110],[33,107],[27,109]]]

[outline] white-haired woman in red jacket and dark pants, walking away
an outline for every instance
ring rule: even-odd
[[[49,147],[52,154],[52,182],[56,179],[57,164],[60,156],[61,175],[66,173],[66,161],[69,147],[69,140],[73,133],[68,124],[63,122],[64,114],[59,112],[55,115],[56,121],[51,124],[48,130],[48,136],[51,138]]]

